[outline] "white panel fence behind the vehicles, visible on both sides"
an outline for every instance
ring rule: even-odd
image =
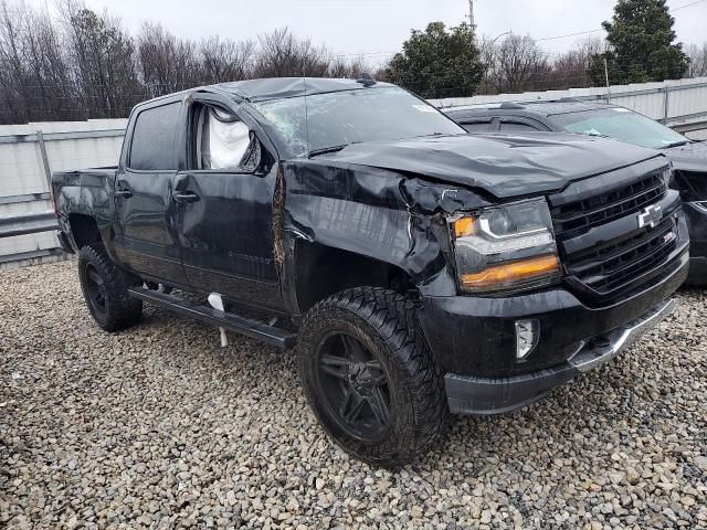
[[[707,139],[707,77],[610,87],[611,100],[658,119],[695,139]],[[431,100],[437,107],[574,97],[606,99],[606,88],[503,94]],[[0,236],[18,221],[52,219],[51,171],[115,166],[125,119],[0,125]],[[41,227],[41,226],[40,226]],[[0,268],[59,254],[51,231],[0,237]],[[6,264],[6,265],[3,265]]]

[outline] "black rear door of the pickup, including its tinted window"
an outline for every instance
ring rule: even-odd
[[[139,107],[115,182],[116,253],[140,276],[176,286],[188,284],[172,200],[181,109],[180,98]]]

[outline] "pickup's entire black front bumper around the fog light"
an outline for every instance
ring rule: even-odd
[[[446,374],[451,410],[506,412],[572,379],[581,373],[580,367],[591,367],[585,362],[604,362],[615,354],[604,359],[606,348],[619,351],[620,333],[636,328],[630,332],[634,337],[644,328],[641,322],[652,320],[648,317],[685,282],[688,265],[684,244],[659,279],[602,307],[589,307],[562,287],[504,298],[423,298],[420,321]],[[521,319],[538,321],[539,338],[528,357],[517,360],[515,322]]]

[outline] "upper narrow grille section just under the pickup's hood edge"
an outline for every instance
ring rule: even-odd
[[[557,206],[552,210],[555,234],[567,239],[587,233],[654,204],[665,197],[666,190],[663,177],[653,174],[609,193]]]

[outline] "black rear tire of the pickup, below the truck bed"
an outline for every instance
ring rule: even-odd
[[[95,288],[89,273],[97,274],[103,309],[95,303]],[[93,274],[92,274],[93,275]],[[94,275],[95,277],[95,275]],[[78,253],[78,278],[86,299],[88,310],[94,320],[106,331],[119,331],[140,321],[143,301],[128,296],[127,289],[133,284],[108,257],[101,243],[92,243],[81,248]],[[92,289],[94,296],[92,297]]]

